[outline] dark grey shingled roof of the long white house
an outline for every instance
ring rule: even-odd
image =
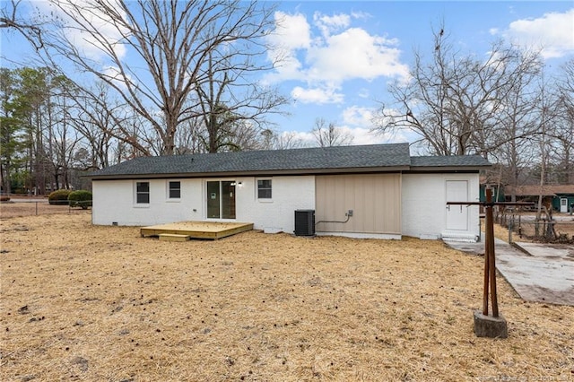
[[[488,161],[460,157],[413,157],[418,166],[484,166]],[[480,157],[477,157],[480,158]],[[408,143],[316,147],[258,152],[219,152],[142,157],[92,172],[88,177],[163,178],[225,174],[317,174],[409,170],[413,165]]]

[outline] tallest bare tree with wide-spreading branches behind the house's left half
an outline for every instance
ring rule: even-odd
[[[51,3],[65,15],[63,20],[70,22],[62,25],[62,32],[52,37],[49,44],[46,42],[52,52],[50,57],[56,57],[57,52],[84,73],[113,88],[151,126],[161,141],[161,154],[176,152],[178,126],[213,112],[201,108],[203,100],[199,96],[204,84],[213,83],[211,75],[227,73],[229,78],[233,73],[232,84],[226,84],[225,101],[242,100],[238,103],[249,107],[255,104],[249,102],[253,99],[245,98],[246,86],[251,83],[239,78],[240,71],[245,74],[266,69],[250,59],[257,52],[264,52],[263,41],[271,30],[273,8],[266,4],[240,0],[51,0]],[[84,54],[70,37],[72,34],[66,33],[70,30],[74,30],[74,35],[81,33],[104,59]],[[213,57],[215,63],[210,62]],[[231,66],[225,67],[228,63]],[[213,104],[214,110],[222,107],[236,111],[235,105]],[[123,138],[125,143],[133,142],[133,137]]]

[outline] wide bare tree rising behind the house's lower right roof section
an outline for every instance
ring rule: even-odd
[[[430,63],[415,52],[411,82],[390,87],[397,107],[382,106],[378,131],[411,130],[430,152],[441,155],[486,156],[514,139],[500,139],[496,119],[507,108],[509,94],[539,70],[538,55],[501,42],[492,44],[485,60],[464,55],[450,44],[444,27],[433,30],[432,48]]]

